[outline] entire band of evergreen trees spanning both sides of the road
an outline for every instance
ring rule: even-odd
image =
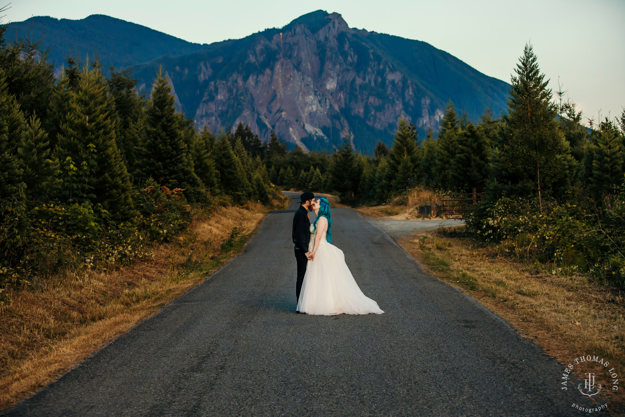
[[[54,270],[68,259],[131,258],[142,239],[168,240],[183,229],[189,204],[200,207],[216,198],[268,203],[274,185],[335,192],[351,204],[388,202],[414,187],[476,188],[486,198],[468,222],[474,235],[509,239],[520,235],[512,232],[510,219],[531,217],[516,230],[544,234],[532,242],[547,259],[568,243],[547,239],[546,230],[559,224],[562,232],[557,219],[572,215],[585,222],[576,225],[577,232],[601,224],[604,236],[586,245],[594,254],[586,253],[584,242],[566,249],[584,259],[580,267],[592,269],[601,258],[603,272],[625,276],[625,264],[618,267],[622,239],[612,236],[622,232],[622,212],[614,214],[614,208],[625,169],[625,111],[618,120],[582,125],[581,111],[562,101],[562,91],[559,100],[552,97],[529,45],[499,118],[487,109],[474,123],[450,100],[436,135],[429,129],[419,141],[417,127],[401,119],[392,145],[379,142],[369,156],[353,152],[349,135],[329,154],[289,150],[273,132],[264,143],[242,123],[218,133],[197,131],[191,118],[176,111],[162,73],[149,98],[137,93],[129,70],[111,68],[106,78],[98,61],[69,57],[57,80],[40,43],[8,42],[5,29],[0,28],[2,282],[27,281],[29,274]],[[611,266],[602,251],[611,256]]]

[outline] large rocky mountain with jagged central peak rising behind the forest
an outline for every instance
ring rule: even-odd
[[[241,121],[261,138],[273,129],[306,150],[332,150],[351,135],[357,150],[371,153],[378,140],[392,142],[402,116],[422,137],[438,129],[450,98],[477,120],[489,106],[498,114],[507,97],[506,83],[427,43],[352,29],[324,11],[139,65],[140,91],[149,93],[160,66],[198,128]]]

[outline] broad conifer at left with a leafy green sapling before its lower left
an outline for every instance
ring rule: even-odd
[[[81,81],[70,96],[68,113],[61,121],[57,157],[63,163],[93,158],[89,186],[99,203],[114,220],[127,220],[136,215],[133,209],[131,183],[121,153],[115,142],[115,126],[108,111],[108,88],[98,70],[85,68]]]

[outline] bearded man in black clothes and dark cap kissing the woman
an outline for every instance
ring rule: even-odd
[[[308,243],[311,240],[310,225],[307,211],[312,212],[312,202],[314,194],[306,191],[299,196],[299,209],[293,216],[293,244],[295,245],[295,259],[297,260],[297,281],[295,283],[295,296],[299,301],[299,292],[302,290],[304,274],[306,274],[306,264],[311,253],[308,251]]]

